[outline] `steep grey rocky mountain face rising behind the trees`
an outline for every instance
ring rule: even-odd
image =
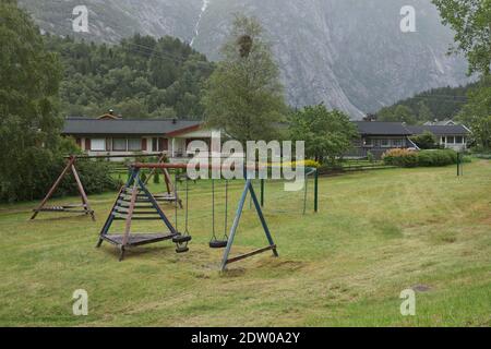
[[[80,0],[20,0],[43,29],[72,32]],[[429,0],[84,0],[87,40],[115,43],[134,33],[172,35],[211,59],[233,13],[263,23],[294,107],[324,101],[354,119],[439,86],[469,80],[446,51],[453,34]],[[403,33],[400,9],[416,10],[416,32]]]

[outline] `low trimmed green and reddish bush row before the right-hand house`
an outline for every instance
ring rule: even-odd
[[[452,149],[431,149],[415,152],[390,149],[383,155],[386,165],[398,167],[435,167],[457,164],[457,153]]]

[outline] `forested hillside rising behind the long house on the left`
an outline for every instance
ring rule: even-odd
[[[119,45],[45,37],[63,68],[61,111],[98,116],[109,108],[123,118],[203,117],[203,82],[214,64],[169,36],[135,35]]]

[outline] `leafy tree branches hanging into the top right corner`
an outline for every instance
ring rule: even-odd
[[[490,74],[491,0],[433,0],[444,25],[455,32],[457,47],[469,62],[469,74]]]

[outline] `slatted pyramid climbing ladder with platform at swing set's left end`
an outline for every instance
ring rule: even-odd
[[[118,246],[120,250],[120,261],[124,258],[124,252],[128,248],[155,243],[164,240],[172,240],[172,242],[177,245],[177,253],[188,252],[188,242],[191,241],[191,236],[188,231],[188,217],[185,218],[187,222],[184,233],[181,233],[176,227],[172,226],[167,216],[164,214],[156,198],[152,195],[145,183],[142,181],[140,174],[140,168],[132,166],[130,178],[121,188],[115,204],[112,205],[111,212],[109,213],[109,216],[100,230],[97,248],[99,248],[104,241]],[[109,233],[109,229],[115,220],[125,221],[124,232]],[[168,231],[135,233],[131,230],[133,220],[161,220]]]

